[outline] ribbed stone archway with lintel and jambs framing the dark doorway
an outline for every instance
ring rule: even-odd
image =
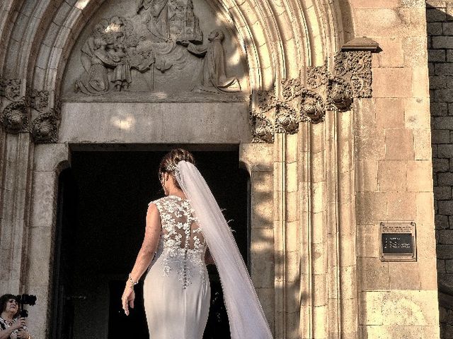
[[[265,252],[269,260],[268,266],[260,268],[269,273],[267,278],[261,280],[258,273],[252,278],[275,337],[357,333],[357,285],[341,283],[354,282],[356,274],[355,229],[350,227],[354,224],[354,169],[347,161],[353,158],[352,112],[350,102],[341,114],[338,107],[322,112],[316,107],[316,100],[327,100],[328,91],[344,85],[339,80],[329,82],[333,87],[327,83],[329,76],[339,75],[333,54],[353,31],[343,28],[350,16],[348,6],[324,6],[323,1],[218,2],[219,13],[236,31],[245,55],[251,112],[248,100],[178,106],[158,102],[152,107],[142,100],[66,101],[60,106],[69,54],[102,4],[88,0],[72,6],[67,2],[52,6],[44,0],[6,4],[7,15],[0,23],[2,37],[8,41],[8,49],[0,54],[6,83],[3,105],[19,104],[11,106],[14,114],[5,115],[1,136],[4,175],[6,182],[14,183],[3,191],[13,207],[4,206],[2,220],[16,222],[16,240],[8,250],[11,264],[2,268],[5,288],[33,290],[51,302],[46,298],[50,275],[40,273],[52,269],[57,175],[70,163],[71,143],[236,143],[251,173],[252,265],[253,253]],[[338,55],[339,61],[348,61],[348,54]],[[368,52],[364,60],[369,71]],[[349,61],[362,62],[354,57]],[[306,72],[308,66],[318,68]],[[341,76],[348,75],[343,81],[350,82],[352,69],[344,71]],[[321,83],[304,92],[310,79]],[[300,91],[288,97],[288,88]],[[291,105],[300,105],[306,93],[315,104],[306,107],[308,113],[297,116],[297,121],[292,114],[275,114],[277,107],[293,112]],[[354,105],[361,109],[360,102]],[[107,117],[112,109],[122,115]],[[184,137],[171,133],[184,119],[181,111],[198,119],[197,125],[185,126]],[[323,117],[326,123],[312,124]],[[117,125],[108,118],[116,118]],[[141,131],[131,133],[132,121]],[[252,143],[253,138],[260,143]],[[337,178],[341,186],[332,184]],[[28,250],[22,249],[23,244],[30,245]],[[328,270],[327,262],[335,269]],[[48,309],[48,304],[41,304],[40,318],[33,320],[42,336],[47,331]],[[328,309],[341,311],[328,319]]]

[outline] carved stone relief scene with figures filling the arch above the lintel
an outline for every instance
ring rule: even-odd
[[[206,30],[210,25],[195,15],[206,8],[194,8],[192,0],[131,4],[117,8],[121,16],[97,19],[91,26],[80,48],[83,68],[72,71],[79,73],[75,94],[69,97],[127,100],[128,93],[149,93],[147,100],[154,101],[162,93],[191,93],[194,98],[241,91],[238,76],[226,71],[226,30]]]

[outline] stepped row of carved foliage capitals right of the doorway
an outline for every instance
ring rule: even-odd
[[[282,81],[277,88],[251,95],[251,125],[254,143],[272,143],[274,133],[297,133],[300,122],[318,124],[326,111],[344,112],[352,100],[372,96],[371,52],[338,52],[332,71],[323,66],[306,69],[302,76]]]

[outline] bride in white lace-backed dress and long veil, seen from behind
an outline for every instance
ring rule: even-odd
[[[149,203],[142,248],[127,279],[122,308],[134,307],[144,279],[144,307],[152,339],[201,339],[210,308],[206,264],[219,271],[231,338],[273,338],[231,230],[187,150],[161,160],[166,196]]]

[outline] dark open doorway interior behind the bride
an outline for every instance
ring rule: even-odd
[[[147,339],[141,293],[129,317],[122,312],[120,297],[142,244],[147,205],[163,196],[157,169],[166,151],[106,149],[77,148],[71,153],[72,214],[65,217],[62,210],[59,226],[62,231],[70,229],[62,232],[59,240],[69,244],[69,255],[60,251],[59,266],[67,266],[69,261],[72,267],[71,272],[62,273],[71,280],[70,295],[65,297],[72,310],[67,314],[71,319],[65,320],[73,326],[73,336],[68,338]],[[193,154],[212,194],[224,208],[226,220],[231,220],[229,225],[246,261],[248,173],[239,168],[239,150],[194,150]],[[230,338],[214,267],[210,267],[210,280],[212,303],[204,338]]]

